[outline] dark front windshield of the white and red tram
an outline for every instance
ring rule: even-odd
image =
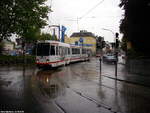
[[[38,43],[37,45],[37,56],[48,56],[50,51],[49,43]]]

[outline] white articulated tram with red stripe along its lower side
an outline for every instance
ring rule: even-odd
[[[51,40],[40,41],[36,46],[36,65],[39,68],[58,67],[90,60],[90,54],[91,50],[85,47]]]

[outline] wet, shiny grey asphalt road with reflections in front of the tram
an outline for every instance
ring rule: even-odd
[[[114,70],[102,64],[102,75],[115,77]],[[118,76],[124,75],[118,65]],[[100,77],[96,58],[55,70],[0,67],[0,111],[150,113],[149,95],[148,87]]]

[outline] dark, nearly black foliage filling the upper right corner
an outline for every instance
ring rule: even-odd
[[[149,0],[121,0],[120,7],[125,10],[120,31],[127,41],[132,43],[136,52],[149,54],[149,26],[150,26],[150,2]]]

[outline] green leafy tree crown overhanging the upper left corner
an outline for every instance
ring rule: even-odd
[[[0,39],[16,33],[26,40],[46,25],[46,0],[1,0],[0,1]],[[36,34],[36,33],[35,33]]]

